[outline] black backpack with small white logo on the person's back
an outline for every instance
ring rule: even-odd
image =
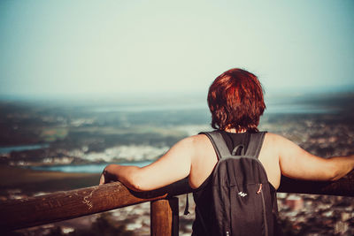
[[[211,217],[215,225],[208,225],[211,235],[281,234],[276,227],[276,193],[272,193],[266,171],[258,160],[265,132],[251,133],[246,153],[243,145],[230,153],[221,133],[204,134],[212,141],[219,159],[212,172]],[[240,149],[241,155],[235,155]]]

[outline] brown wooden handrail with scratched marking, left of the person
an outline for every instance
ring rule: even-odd
[[[191,192],[188,179],[150,192],[133,192],[119,182],[85,187],[0,204],[0,229],[15,230],[82,217],[110,209]]]

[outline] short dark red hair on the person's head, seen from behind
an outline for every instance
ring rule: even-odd
[[[257,76],[242,69],[228,70],[214,80],[208,105],[214,129],[235,128],[236,132],[257,132],[259,118],[266,109]]]

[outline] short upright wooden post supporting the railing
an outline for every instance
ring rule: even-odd
[[[151,236],[178,236],[178,198],[172,197],[150,203]]]

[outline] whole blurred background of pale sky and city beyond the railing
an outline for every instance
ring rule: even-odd
[[[265,88],[260,130],[315,155],[354,154],[352,12],[344,0],[1,1],[0,202],[94,186],[106,164],[149,164],[211,130],[207,89],[232,67]],[[278,202],[287,235],[354,234],[350,197]],[[12,235],[119,232],[150,235],[150,205]]]

